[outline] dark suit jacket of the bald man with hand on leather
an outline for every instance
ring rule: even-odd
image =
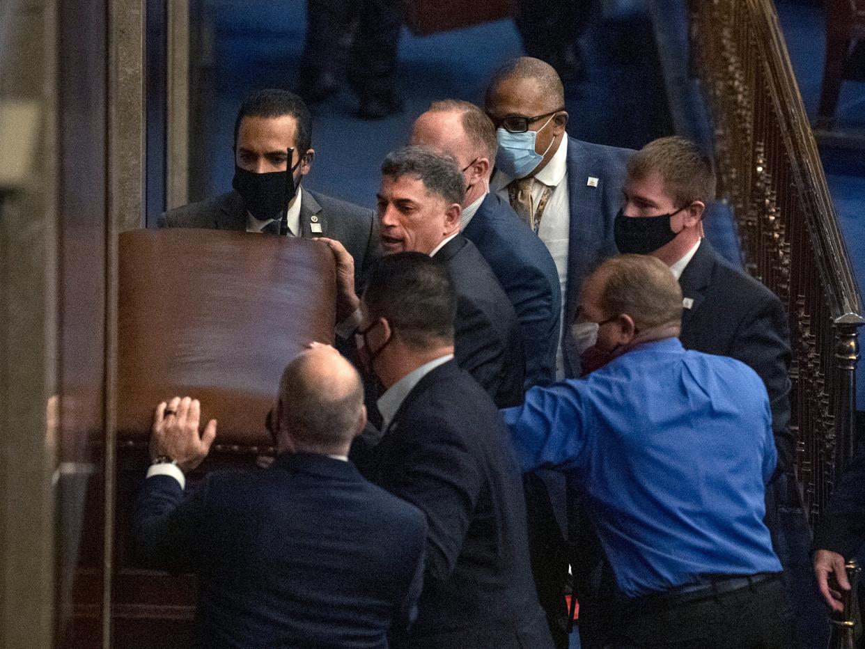
[[[133,526],[140,562],[198,573],[196,647],[386,649],[420,594],[423,514],[324,455],[208,473],[187,498],[153,476]]]

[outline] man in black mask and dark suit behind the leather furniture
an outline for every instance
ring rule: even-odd
[[[359,276],[381,254],[375,215],[301,187],[316,154],[311,143],[310,112],[297,95],[276,89],[251,95],[234,122],[234,190],[172,209],[158,227],[326,236],[349,250]]]

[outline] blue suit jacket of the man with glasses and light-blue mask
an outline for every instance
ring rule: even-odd
[[[583,280],[601,261],[618,254],[612,225],[622,207],[625,165],[633,153],[631,149],[567,138],[567,193],[571,220],[567,241],[565,318],[561,330],[568,377],[580,376],[580,358],[573,349],[570,325],[580,305]],[[594,179],[591,184],[590,178]]]

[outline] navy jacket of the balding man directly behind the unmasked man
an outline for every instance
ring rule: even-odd
[[[491,192],[471,217],[463,236],[490,264],[514,305],[526,362],[523,389],[554,382],[561,288],[547,247],[507,201]]]

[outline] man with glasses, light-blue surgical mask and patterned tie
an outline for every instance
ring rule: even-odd
[[[569,322],[586,274],[616,254],[612,224],[633,151],[569,138],[559,75],[528,56],[508,61],[493,75],[484,111],[498,141],[490,189],[548,247],[564,296],[562,322]],[[573,338],[568,327],[562,331],[557,378],[579,376]]]

